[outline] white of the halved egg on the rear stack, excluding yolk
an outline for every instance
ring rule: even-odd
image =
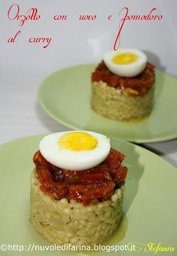
[[[136,61],[126,65],[119,65],[112,62],[112,58],[119,53],[131,52],[138,58]],[[134,77],[140,74],[146,67],[147,57],[144,52],[137,49],[123,48],[118,51],[106,52],[104,55],[104,62],[106,67],[113,73],[122,77]]]

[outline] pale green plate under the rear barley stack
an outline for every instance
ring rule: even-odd
[[[150,143],[177,138],[177,79],[156,72],[151,115],[139,123],[118,122],[91,109],[91,72],[95,65],[80,65],[55,72],[38,91],[42,108],[54,120],[72,129],[95,131],[112,138]]]

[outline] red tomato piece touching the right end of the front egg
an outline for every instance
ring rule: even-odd
[[[114,148],[111,148],[109,155],[105,159],[105,161],[110,164],[111,173],[119,167],[124,158],[124,154],[115,150]]]

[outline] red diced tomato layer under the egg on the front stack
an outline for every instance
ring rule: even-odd
[[[84,171],[58,168],[47,162],[40,151],[35,153],[33,161],[43,193],[88,205],[110,199],[124,182],[127,175],[127,167],[121,165],[124,158],[121,152],[111,148],[103,163]]]

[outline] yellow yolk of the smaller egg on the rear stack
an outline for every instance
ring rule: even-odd
[[[114,58],[112,58],[112,62],[118,65],[127,65],[133,63],[137,60],[137,55],[131,52],[119,53]]]

